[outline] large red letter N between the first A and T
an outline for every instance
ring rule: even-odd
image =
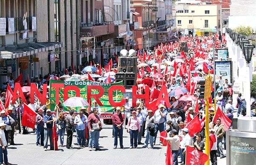
[[[39,101],[43,105],[46,105],[47,84],[43,84],[43,94],[41,94],[38,88],[36,87],[36,85],[34,83],[31,83],[31,86],[30,86],[30,103],[31,104],[35,103],[35,94],[37,95]]]

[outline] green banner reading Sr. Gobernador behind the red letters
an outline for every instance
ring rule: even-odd
[[[64,84],[64,88],[66,86],[70,86],[70,85],[78,87],[79,90],[80,90],[80,97],[83,97],[85,100],[87,100],[87,85],[100,85],[100,86],[102,86],[102,88],[104,89],[104,94],[103,94],[102,97],[99,98],[99,100],[103,104],[103,106],[101,106],[102,116],[104,116],[104,114],[112,114],[112,112],[113,112],[113,106],[108,101],[108,89],[113,85],[122,85],[122,82],[105,84],[105,83],[97,83],[97,82],[92,82],[92,81],[58,81],[58,80],[51,80],[50,81],[50,109],[51,109],[51,111],[54,111],[54,108],[55,108],[55,105],[56,105],[56,95],[55,95],[56,89],[52,87],[53,83],[62,83],[62,84]],[[64,88],[59,89],[59,96],[58,96],[59,101],[61,101],[62,103],[64,102]],[[92,94],[98,94],[99,91],[92,89],[91,93]],[[71,94],[72,94],[72,96],[71,96]],[[70,98],[70,97],[76,97],[76,91],[72,91],[72,92],[71,92],[71,90],[68,91],[68,98]],[[113,98],[116,98],[116,92],[113,92]],[[117,100],[115,100],[115,101],[120,102],[121,99],[123,99],[123,94],[120,91],[118,91],[117,92]],[[64,112],[68,112],[71,109],[73,111],[77,112],[81,109],[81,107],[79,107],[79,108],[66,107],[63,104],[62,104],[62,106],[64,107]],[[107,117],[102,117],[102,118],[107,118]]]

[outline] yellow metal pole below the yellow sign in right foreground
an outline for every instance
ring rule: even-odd
[[[209,100],[205,100],[205,154],[208,155],[205,165],[209,165]]]

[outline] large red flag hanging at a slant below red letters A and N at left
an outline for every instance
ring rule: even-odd
[[[30,109],[28,105],[26,105],[25,103],[23,104],[24,104],[24,110],[23,110],[21,125],[34,129],[36,113],[32,109]]]

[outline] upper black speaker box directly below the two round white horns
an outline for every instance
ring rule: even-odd
[[[118,57],[119,72],[133,72],[137,74],[137,57]]]

